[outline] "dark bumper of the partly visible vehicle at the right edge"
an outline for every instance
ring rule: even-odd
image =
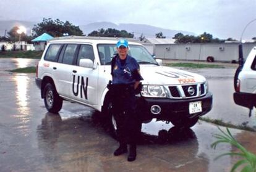
[[[252,109],[256,104],[256,94],[251,94],[247,92],[234,92],[233,94],[234,102],[237,105],[241,105],[243,107],[247,107]]]

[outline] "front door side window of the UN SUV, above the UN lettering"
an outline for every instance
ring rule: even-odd
[[[80,59],[90,59],[94,62],[93,47],[91,45],[82,44],[79,49],[79,55],[77,57],[77,65],[79,65]]]

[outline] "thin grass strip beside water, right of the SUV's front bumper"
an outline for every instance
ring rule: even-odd
[[[215,120],[215,119],[211,119],[208,117],[200,117],[199,118],[202,121],[206,121],[208,123],[214,123],[216,125],[220,125],[220,126],[226,126],[228,128],[236,128],[236,129],[243,129],[246,131],[254,131],[256,132],[256,128],[252,128],[250,126],[246,126],[246,125],[233,125],[232,123],[225,123],[222,120]]]

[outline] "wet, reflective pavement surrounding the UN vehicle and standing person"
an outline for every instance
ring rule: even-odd
[[[19,64],[7,63],[0,59],[0,70]],[[240,117],[237,123],[249,121],[254,126],[255,115],[248,118],[247,109],[232,104],[229,94],[233,84],[229,84],[233,80],[228,74],[232,70],[220,72],[227,75],[223,79],[206,75],[214,96],[213,110],[206,117],[232,122]],[[0,171],[230,171],[237,161],[236,157],[214,160],[224,152],[236,151],[229,144],[211,149],[216,141],[213,134],[219,133],[216,125],[199,121],[191,129],[181,130],[153,120],[142,125],[137,159],[127,162],[127,154],[113,156],[117,141],[100,113],[69,102],[64,102],[59,115],[48,113],[36,88],[35,74],[0,72],[0,95]],[[255,133],[231,132],[256,154]]]

